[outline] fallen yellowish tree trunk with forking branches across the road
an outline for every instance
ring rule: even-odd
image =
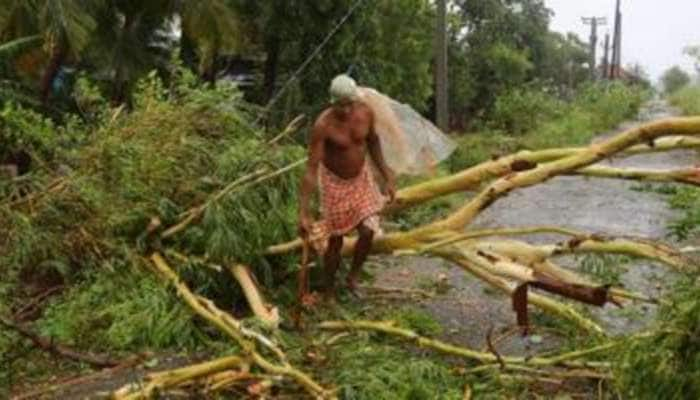
[[[669,118],[640,125],[588,147],[523,151],[486,161],[454,175],[404,188],[398,192],[395,203],[386,212],[406,209],[456,192],[478,191],[462,207],[444,218],[409,231],[394,232],[378,238],[374,242],[373,252],[397,255],[427,253],[443,257],[509,295],[514,295],[516,289],[523,284],[535,284],[545,291],[580,301],[590,297],[590,304],[602,305],[608,301],[620,304],[622,299],[656,302],[657,299],[621,288],[596,285],[579,274],[558,266],[553,258],[573,253],[616,253],[655,260],[678,271],[694,269],[694,265],[682,253],[669,246],[643,238],[582,233],[564,227],[470,231],[468,226],[479,213],[514,190],[541,184],[560,175],[698,185],[700,169],[690,166],[680,170],[648,171],[593,165],[613,157],[697,148],[700,140],[694,136],[699,134],[699,117]],[[540,246],[515,240],[483,239],[487,236],[547,230],[568,236],[569,239]],[[288,253],[298,251],[300,247],[301,241],[297,239],[271,246],[267,253]],[[344,254],[349,254],[353,247],[354,241],[347,240]],[[582,294],[582,288],[585,294]],[[519,296],[522,297],[522,289]],[[551,297],[530,294],[527,300],[546,312],[574,321],[589,332],[603,333],[595,322]]]

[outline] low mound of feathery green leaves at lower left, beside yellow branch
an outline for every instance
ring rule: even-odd
[[[89,274],[54,302],[39,322],[41,334],[92,350],[195,349],[205,343],[191,310],[156,275],[128,265],[113,268]]]

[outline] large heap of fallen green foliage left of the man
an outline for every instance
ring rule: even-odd
[[[92,116],[92,132],[70,143],[56,133],[74,126],[72,118],[57,126],[14,105],[5,107],[3,132],[22,143],[32,137],[24,132],[48,138],[52,141],[37,141],[36,148],[50,149],[65,163],[62,172],[48,168],[31,177],[32,190],[42,192],[62,182],[31,209],[10,206],[9,198],[0,206],[5,281],[14,284],[20,273],[44,271],[77,284],[38,323],[61,341],[116,350],[201,344],[186,307],[152,272],[139,270],[144,266],[139,252],[158,246],[205,260],[182,262],[183,279],[232,307],[241,299],[235,281],[207,264],[251,263],[269,283],[273,269],[262,250],[294,234],[299,170],[210,201],[203,217],[172,239],[146,237],[152,218],[171,226],[236,179],[273,172],[304,154],[299,146],[266,146],[234,86],[201,87],[191,74],[176,72],[169,87],[156,74],[141,81],[130,112],[109,108],[93,84],[81,82],[78,98]]]

